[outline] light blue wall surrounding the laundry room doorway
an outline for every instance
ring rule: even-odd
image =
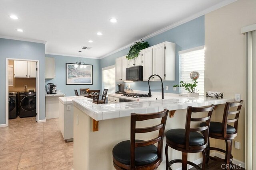
[[[0,124],[6,123],[6,58],[39,60],[39,92],[40,95],[40,115],[39,119],[45,119],[45,96],[44,96],[44,65],[45,65],[45,45],[43,43],[32,43],[0,38]]]

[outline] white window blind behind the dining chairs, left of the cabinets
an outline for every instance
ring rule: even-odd
[[[102,68],[102,88],[102,92],[107,88],[108,94],[115,94],[115,65]]]

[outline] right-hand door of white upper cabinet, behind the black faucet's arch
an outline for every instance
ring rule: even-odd
[[[153,74],[158,74],[163,80],[165,79],[164,55],[164,44],[153,47]],[[160,80],[160,78],[155,76],[153,80]]]

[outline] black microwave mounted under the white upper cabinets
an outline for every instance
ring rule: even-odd
[[[142,66],[135,66],[126,68],[126,80],[128,81],[142,81],[143,69]]]

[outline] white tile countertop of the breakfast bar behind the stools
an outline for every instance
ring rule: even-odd
[[[234,102],[234,98],[206,98],[204,96],[196,98],[176,97],[164,100],[151,100],[139,102],[123,102],[114,104],[94,104],[86,99],[74,99],[73,105],[78,107],[84,113],[92,117],[92,119],[106,120],[118,117],[127,117],[131,113],[154,113],[159,110],[169,109],[178,110],[186,109],[188,106],[201,107],[210,106],[211,104],[225,104],[226,102]]]

